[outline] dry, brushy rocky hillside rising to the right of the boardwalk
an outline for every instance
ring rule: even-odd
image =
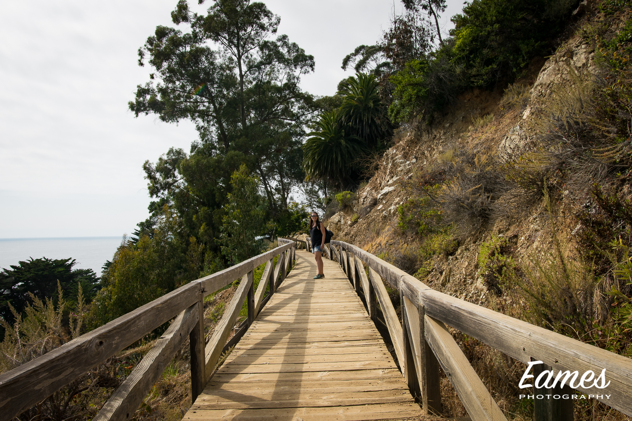
[[[632,222],[629,131],[617,127],[629,121],[629,78],[612,64],[628,17],[584,1],[520,78],[403,125],[375,175],[327,215],[334,239],[435,290],[630,355],[630,290],[614,273]],[[533,404],[517,399],[525,366],[454,336],[499,406],[530,419]],[[445,415],[465,417],[446,377],[442,388]],[[621,417],[575,405],[576,420]]]

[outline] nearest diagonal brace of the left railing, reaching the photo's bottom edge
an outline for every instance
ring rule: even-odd
[[[181,312],[154,347],[134,367],[130,376],[119,386],[99,411],[94,421],[128,420],[160,378],[173,356],[186,341],[198,322],[198,303]]]

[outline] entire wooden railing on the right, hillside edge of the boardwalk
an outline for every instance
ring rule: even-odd
[[[364,295],[368,314],[374,320],[376,302],[379,302],[411,393],[422,400],[427,413],[441,412],[441,367],[472,420],[506,420],[447,330],[447,324],[525,364],[544,362],[533,365],[535,377],[526,384],[534,384],[538,373],[544,370],[556,374],[558,371],[578,371],[579,380],[586,371],[594,372],[597,377],[605,369],[605,384],[610,382],[607,388],[575,389],[632,415],[631,359],[435,291],[414,276],[352,244],[332,240],[331,251],[356,292]],[[366,271],[364,265],[368,266]],[[401,322],[382,278],[399,290]],[[592,379],[588,378],[587,383],[585,386],[592,385]],[[573,389],[568,384],[564,389],[559,386],[555,389],[526,388],[521,389],[521,393],[527,398],[533,395],[536,421],[573,420]],[[549,398],[545,397],[547,394]],[[559,399],[554,398],[556,395]]]

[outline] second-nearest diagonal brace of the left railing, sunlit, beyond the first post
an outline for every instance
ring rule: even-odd
[[[209,376],[215,369],[215,365],[219,360],[226,340],[228,340],[231,329],[233,329],[237,316],[239,316],[241,305],[243,305],[243,300],[245,300],[248,295],[251,284],[252,278],[246,273],[246,275],[241,278],[241,282],[233,295],[233,299],[224,310],[224,316],[222,316],[222,319],[217,324],[213,335],[210,337],[209,343],[206,345],[206,372]]]

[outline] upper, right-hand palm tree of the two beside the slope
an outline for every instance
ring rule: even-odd
[[[381,146],[392,130],[378,88],[373,74],[356,73],[337,92],[343,97],[339,113],[341,124],[349,126],[351,134],[363,139],[368,148]]]

